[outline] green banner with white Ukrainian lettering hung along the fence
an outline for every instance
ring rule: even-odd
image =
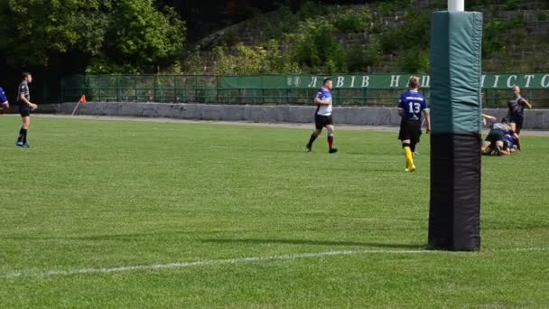
[[[307,89],[321,87],[322,80],[333,80],[334,88],[342,89],[405,89],[410,74],[348,74],[348,75],[258,75],[224,76],[221,88],[233,89]],[[419,75],[421,88],[429,88],[429,75]],[[524,89],[549,89],[549,73],[516,73],[482,75],[481,88],[509,89],[519,86]]]

